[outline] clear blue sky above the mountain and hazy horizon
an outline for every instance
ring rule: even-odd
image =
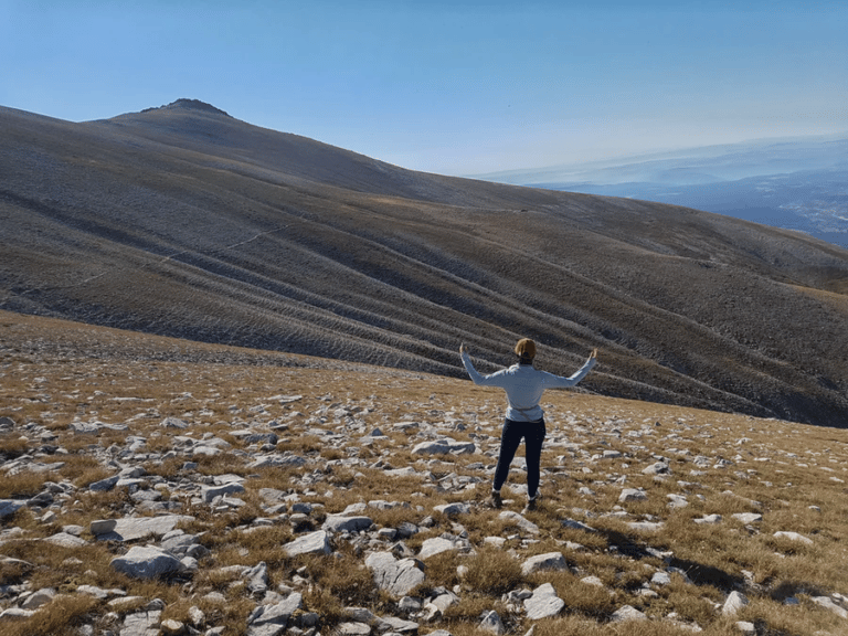
[[[477,174],[848,130],[848,2],[0,0],[0,105],[189,97]]]

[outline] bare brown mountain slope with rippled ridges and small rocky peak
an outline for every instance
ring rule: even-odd
[[[412,172],[192,100],[71,124],[0,108],[0,308],[844,425],[848,253],[625,199]]]

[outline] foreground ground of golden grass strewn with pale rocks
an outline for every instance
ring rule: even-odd
[[[498,391],[3,318],[3,634],[848,629],[841,430],[548,393],[496,510]]]

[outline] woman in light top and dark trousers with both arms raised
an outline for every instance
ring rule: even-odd
[[[544,412],[539,406],[542,393],[545,389],[574,386],[583,380],[597,362],[597,349],[593,349],[586,363],[571,378],[563,378],[539,371],[533,367],[536,358],[536,342],[529,338],[522,338],[516,344],[518,363],[492,373],[480,375],[471,363],[471,357],[465,348],[459,347],[459,356],[465,364],[465,370],[475,384],[481,386],[500,386],[507,392],[507,415],[504,422],[504,431],[500,436],[500,453],[498,466],[495,469],[495,481],[491,485],[491,498],[489,502],[495,508],[500,508],[504,502],[500,498],[500,488],[507,480],[509,465],[516,456],[516,451],[524,439],[527,456],[527,507],[524,512],[536,510],[539,498],[539,463],[542,457],[542,442],[544,442]]]

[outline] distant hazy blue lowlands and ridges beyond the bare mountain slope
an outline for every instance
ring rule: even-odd
[[[686,205],[848,247],[846,136],[692,148],[485,178]]]

